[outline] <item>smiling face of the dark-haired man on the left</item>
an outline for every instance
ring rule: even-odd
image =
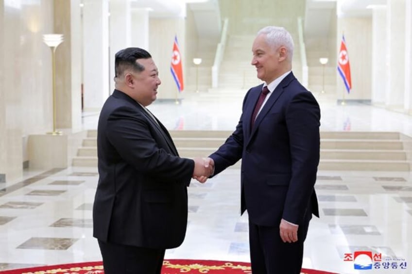
[[[143,106],[148,106],[156,100],[157,87],[161,84],[159,72],[152,58],[137,59],[144,67],[141,72],[129,72],[126,81],[132,88],[130,96]]]

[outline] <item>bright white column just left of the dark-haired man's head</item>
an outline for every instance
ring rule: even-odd
[[[84,111],[98,111],[109,95],[109,1],[83,1]]]

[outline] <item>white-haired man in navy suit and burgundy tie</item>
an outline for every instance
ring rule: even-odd
[[[247,92],[236,130],[207,165],[216,175],[242,159],[241,213],[249,215],[253,274],[300,274],[309,221],[319,217],[320,109],[293,76],[289,32],[261,29],[252,51],[264,83]]]

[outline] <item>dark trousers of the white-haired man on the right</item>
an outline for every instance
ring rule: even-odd
[[[298,228],[298,241],[282,242],[279,226],[257,226],[249,220],[250,261],[253,274],[300,274],[303,242],[310,216]]]

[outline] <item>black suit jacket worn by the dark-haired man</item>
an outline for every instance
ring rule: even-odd
[[[194,162],[179,158],[167,129],[115,90],[97,133],[99,183],[93,236],[103,242],[174,248],[185,237]]]

